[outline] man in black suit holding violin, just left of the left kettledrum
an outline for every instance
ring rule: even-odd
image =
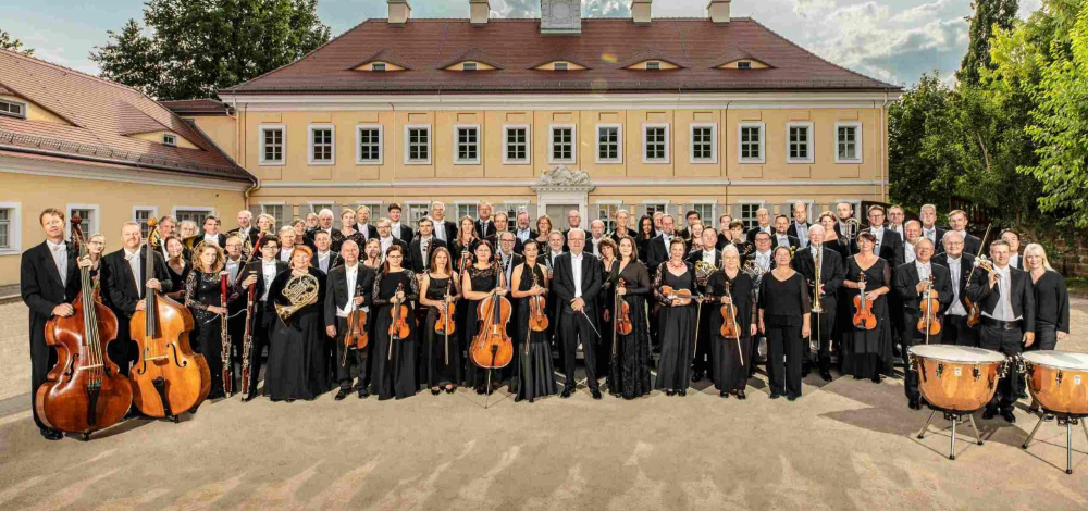
[[[894,272],[895,294],[900,297],[903,315],[901,338],[903,339],[903,367],[906,372],[903,388],[906,391],[907,407],[912,410],[922,409],[922,395],[918,392],[918,372],[911,367],[910,348],[926,340],[932,344],[940,342],[940,337],[927,338],[926,334],[918,329],[918,320],[925,320],[922,317],[919,306],[927,285],[929,285],[929,278],[932,277],[932,285],[929,289],[937,291],[937,301],[940,303],[938,310],[931,311],[932,322],[943,321],[944,311],[948,310],[952,299],[952,274],[949,269],[931,261],[934,251],[934,244],[929,239],[918,238],[918,242],[914,245],[914,261],[903,263]]]

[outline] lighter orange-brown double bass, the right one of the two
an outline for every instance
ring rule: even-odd
[[[154,240],[159,237],[158,221],[148,219],[144,242],[144,276],[154,276]],[[138,354],[128,379],[133,386],[133,404],[145,415],[170,417],[194,411],[211,390],[211,370],[203,356],[193,352],[189,332],[193,314],[181,303],[154,289],[144,292],[144,310],[136,311],[128,323]]]

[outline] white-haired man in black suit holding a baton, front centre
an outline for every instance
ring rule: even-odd
[[[562,337],[564,373],[566,386],[559,397],[569,398],[574,391],[574,352],[578,344],[582,344],[582,354],[585,357],[585,383],[590,387],[593,399],[601,399],[601,389],[594,371],[596,364],[596,347],[601,342],[601,329],[595,324],[598,317],[597,295],[601,294],[601,262],[582,251],[585,248],[585,232],[571,229],[567,244],[570,252],[556,258],[555,276],[552,292],[555,294],[559,307],[559,332]],[[577,269],[577,270],[576,270]]]

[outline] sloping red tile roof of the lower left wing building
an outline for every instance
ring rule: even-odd
[[[0,83],[71,123],[0,116],[5,152],[256,182],[198,129],[135,89],[7,50],[0,50]],[[127,136],[158,130],[176,133],[198,149]]]

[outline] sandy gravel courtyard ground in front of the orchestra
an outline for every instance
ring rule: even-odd
[[[1086,509],[1088,441],[1036,421],[979,421],[957,444],[882,385],[806,379],[796,402],[712,389],[535,404],[474,394],[401,401],[206,403],[181,424],[127,421],[42,440],[28,411],[26,309],[0,307],[0,509]],[[1088,300],[1073,339],[1088,351]],[[7,398],[7,399],[5,399]],[[497,401],[494,402],[494,401]],[[977,415],[976,415],[977,417]],[[961,428],[960,433],[968,433]],[[969,434],[969,433],[968,433]],[[961,437],[964,438],[964,437]],[[64,488],[64,491],[59,491]]]

